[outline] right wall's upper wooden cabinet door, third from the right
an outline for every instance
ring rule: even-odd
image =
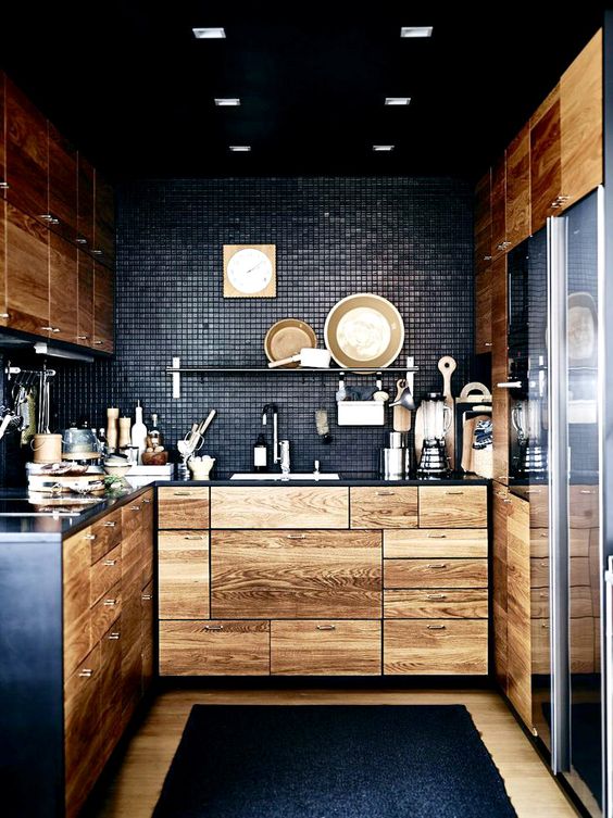
[[[506,149],[506,249],[530,235],[530,127]]]

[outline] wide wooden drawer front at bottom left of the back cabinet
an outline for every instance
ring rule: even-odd
[[[268,676],[264,621],[161,621],[161,676]]]

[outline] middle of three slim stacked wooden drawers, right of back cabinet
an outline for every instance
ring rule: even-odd
[[[487,559],[386,559],[384,588],[487,588]]]

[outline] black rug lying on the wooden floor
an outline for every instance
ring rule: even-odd
[[[154,818],[512,818],[461,705],[196,705]]]

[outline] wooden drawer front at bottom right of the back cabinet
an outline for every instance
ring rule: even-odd
[[[487,620],[389,619],[384,674],[487,674]]]

